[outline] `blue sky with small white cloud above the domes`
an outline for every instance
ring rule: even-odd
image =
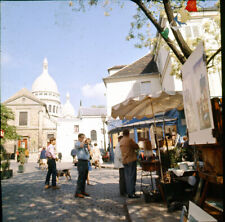
[[[101,5],[77,12],[68,1],[1,2],[1,101],[24,87],[31,91],[46,57],[62,104],[69,92],[76,112],[80,100],[106,105],[107,69],[149,52],[126,40],[135,5],[112,6],[105,16]]]

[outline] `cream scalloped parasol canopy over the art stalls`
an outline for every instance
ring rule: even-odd
[[[132,118],[151,118],[157,113],[171,109],[183,109],[183,96],[180,92],[159,91],[151,95],[141,95],[123,101],[112,107],[113,118],[131,120]]]

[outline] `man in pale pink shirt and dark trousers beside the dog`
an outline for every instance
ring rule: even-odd
[[[47,164],[48,164],[48,173],[45,180],[45,189],[50,188],[49,185],[50,177],[52,175],[52,189],[59,189],[60,187],[56,185],[56,161],[58,160],[56,157],[56,139],[54,137],[50,138],[50,145],[46,150]]]

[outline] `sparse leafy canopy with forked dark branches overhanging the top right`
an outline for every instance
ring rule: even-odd
[[[70,6],[73,7],[74,10],[83,10],[85,11],[84,0],[73,0],[70,1]],[[181,32],[179,29],[172,29],[173,36],[175,41],[171,40],[168,36],[164,35],[163,32],[165,31],[165,27],[160,24],[158,21],[160,16],[165,15],[167,17],[168,22],[176,27],[177,24],[174,22],[175,14],[179,12],[179,10],[184,9],[187,0],[89,0],[88,3],[91,6],[95,6],[97,4],[102,4],[105,7],[105,15],[109,16],[112,7],[110,3],[117,3],[124,7],[124,4],[127,2],[134,3],[137,7],[136,14],[133,16],[134,21],[131,22],[130,32],[127,36],[127,40],[136,39],[137,42],[135,47],[142,48],[142,47],[151,47],[154,45],[156,38],[152,36],[150,32],[150,27],[153,25],[158,33],[162,36],[165,40],[167,46],[172,50],[176,59],[179,63],[184,64],[186,59],[192,53],[193,47],[192,45],[196,46],[195,43],[191,43],[188,40],[184,40]],[[207,7],[207,0],[197,0],[197,6],[199,8]],[[219,7],[220,0],[215,0],[215,6]],[[185,13],[188,15],[187,10]],[[219,19],[217,19],[217,24],[219,24]],[[199,41],[199,40],[198,40]],[[176,42],[174,44],[174,42]],[[216,52],[215,52],[216,51]],[[221,48],[215,50],[214,53],[208,55],[208,61],[211,61],[211,58],[215,57],[220,51]],[[215,54],[215,55],[214,55]]]

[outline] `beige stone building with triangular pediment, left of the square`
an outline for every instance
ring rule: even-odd
[[[30,152],[38,152],[38,148],[47,145],[49,137],[56,136],[56,122],[48,113],[46,104],[23,88],[4,103],[11,108],[15,119],[9,122],[16,126],[21,135],[18,141],[7,141],[8,152],[17,147],[28,148]]]

